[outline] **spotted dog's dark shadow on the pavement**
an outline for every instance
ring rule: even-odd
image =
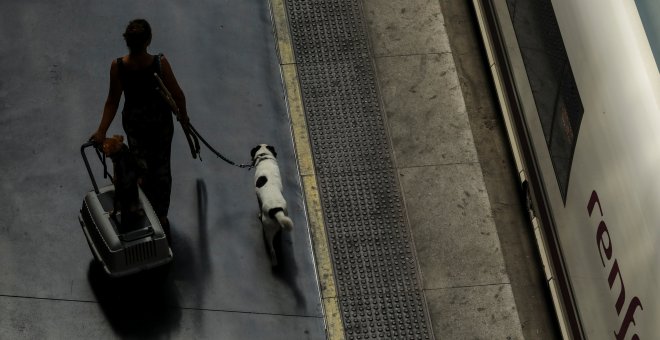
[[[293,248],[292,232],[280,230],[275,234],[273,248],[275,248],[275,255],[277,256],[277,265],[271,266],[271,269],[273,276],[284,282],[291,289],[296,307],[303,308],[305,306],[305,295],[298,286],[298,265]],[[265,238],[264,254],[268,257],[268,243]]]

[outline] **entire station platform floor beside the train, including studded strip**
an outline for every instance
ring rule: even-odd
[[[0,9],[0,338],[560,338],[469,2]],[[237,163],[277,149],[295,223],[280,267],[254,173],[193,160],[178,127],[173,264],[94,265],[79,148],[139,17],[210,143]]]

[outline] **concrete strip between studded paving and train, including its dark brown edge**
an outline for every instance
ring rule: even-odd
[[[362,3],[436,338],[560,338],[471,2]]]

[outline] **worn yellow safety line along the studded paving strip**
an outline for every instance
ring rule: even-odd
[[[300,84],[298,82],[298,72],[293,55],[286,7],[284,0],[271,0],[270,6],[277,43],[277,54],[280,60],[287,107],[291,118],[294,147],[298,158],[300,175],[302,176],[303,191],[305,193],[305,206],[307,208],[309,228],[312,236],[312,248],[316,260],[317,276],[321,286],[321,300],[323,303],[327,338],[329,340],[343,340],[345,339],[344,323],[339,309],[328,235],[326,234],[321,198],[316,182],[312,147],[309,141],[307,121],[300,95]]]

